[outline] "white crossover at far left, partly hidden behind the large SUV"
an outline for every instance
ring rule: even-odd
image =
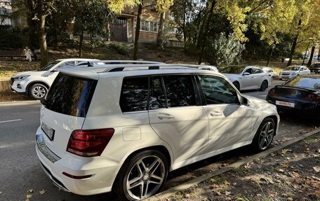
[[[46,95],[51,84],[58,75],[56,69],[73,67],[78,62],[92,61],[92,59],[62,59],[55,60],[39,71],[25,71],[11,77],[10,88],[13,92],[26,94],[34,99],[41,99]]]

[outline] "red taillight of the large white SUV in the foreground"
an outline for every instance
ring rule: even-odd
[[[84,157],[101,155],[113,134],[113,128],[74,130],[69,138],[67,151]]]

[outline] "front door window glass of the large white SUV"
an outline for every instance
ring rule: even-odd
[[[206,104],[238,104],[236,90],[224,78],[199,76]]]

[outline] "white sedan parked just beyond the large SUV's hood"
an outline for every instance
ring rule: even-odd
[[[229,66],[222,69],[224,74],[238,90],[266,90],[271,85],[271,76],[260,67]]]

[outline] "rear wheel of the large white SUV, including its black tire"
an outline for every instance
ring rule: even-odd
[[[154,161],[152,162],[152,160]],[[156,164],[156,162],[159,164],[154,165],[154,169],[151,166],[152,164]],[[144,165],[142,165],[142,163]],[[151,167],[151,169],[149,169],[149,167]],[[156,180],[155,176],[163,179],[158,179],[158,181],[156,181],[157,184],[149,183]],[[124,165],[121,167],[116,176],[116,180],[114,181],[114,192],[121,200],[143,200],[159,192],[164,186],[167,176],[168,161],[164,154],[155,150],[142,151],[136,153],[124,162]],[[133,182],[129,184],[129,181]],[[131,187],[131,185],[133,187]],[[145,186],[147,186],[146,189]],[[140,191],[141,187],[143,189],[142,193]]]

